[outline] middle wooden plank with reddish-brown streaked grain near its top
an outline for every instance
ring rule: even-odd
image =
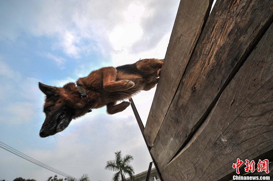
[[[218,0],[151,148],[160,171],[188,142],[273,18],[272,0]]]

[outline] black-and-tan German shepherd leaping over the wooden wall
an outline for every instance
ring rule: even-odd
[[[72,119],[90,112],[92,108],[107,106],[107,112],[123,111],[129,99],[141,90],[150,90],[158,80],[164,59],[143,59],[119,67],[104,67],[92,71],[75,83],[53,87],[39,82],[39,88],[46,94],[43,111],[46,119],[40,130],[40,137],[55,135],[68,127]]]

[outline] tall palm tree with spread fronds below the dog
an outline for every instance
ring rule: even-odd
[[[125,180],[124,174],[128,174],[132,181],[134,181],[134,169],[129,163],[134,159],[132,155],[126,155],[122,158],[121,151],[115,152],[116,159],[109,160],[106,163],[105,169],[116,171],[113,181],[119,181],[120,177],[122,181]]]

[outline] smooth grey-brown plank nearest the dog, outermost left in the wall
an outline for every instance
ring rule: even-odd
[[[146,122],[144,135],[152,146],[177,86],[192,56],[203,26],[208,18],[212,0],[181,0],[166,52],[161,79]]]

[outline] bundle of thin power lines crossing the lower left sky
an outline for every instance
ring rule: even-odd
[[[9,146],[9,145],[7,145],[7,144],[1,142],[1,141],[0,141],[0,147],[3,148],[3,149],[5,149],[6,151],[9,151],[9,152],[11,152],[11,153],[13,153],[13,154],[15,154],[15,155],[21,157],[21,158],[24,158],[24,159],[27,160],[27,161],[30,161],[30,162],[32,162],[32,163],[38,165],[38,166],[41,166],[41,167],[43,167],[43,168],[46,168],[47,170],[50,170],[50,171],[52,171],[52,172],[55,172],[55,173],[57,173],[57,174],[59,174],[59,175],[63,175],[63,176],[65,176],[65,177],[73,177],[73,176],[68,175],[68,174],[66,174],[66,173],[64,173],[64,172],[61,172],[60,170],[57,170],[57,169],[55,169],[55,168],[53,168],[53,167],[50,167],[50,166],[48,166],[48,165],[46,165],[46,164],[44,164],[44,163],[42,163],[42,162],[40,162],[40,161],[38,161],[38,160],[36,160],[36,159],[34,159],[34,158],[32,158],[32,157],[26,155],[26,154],[23,154],[21,151],[18,151],[18,150],[16,150],[16,149],[12,148],[11,146]],[[75,177],[73,177],[73,178],[75,178]]]

